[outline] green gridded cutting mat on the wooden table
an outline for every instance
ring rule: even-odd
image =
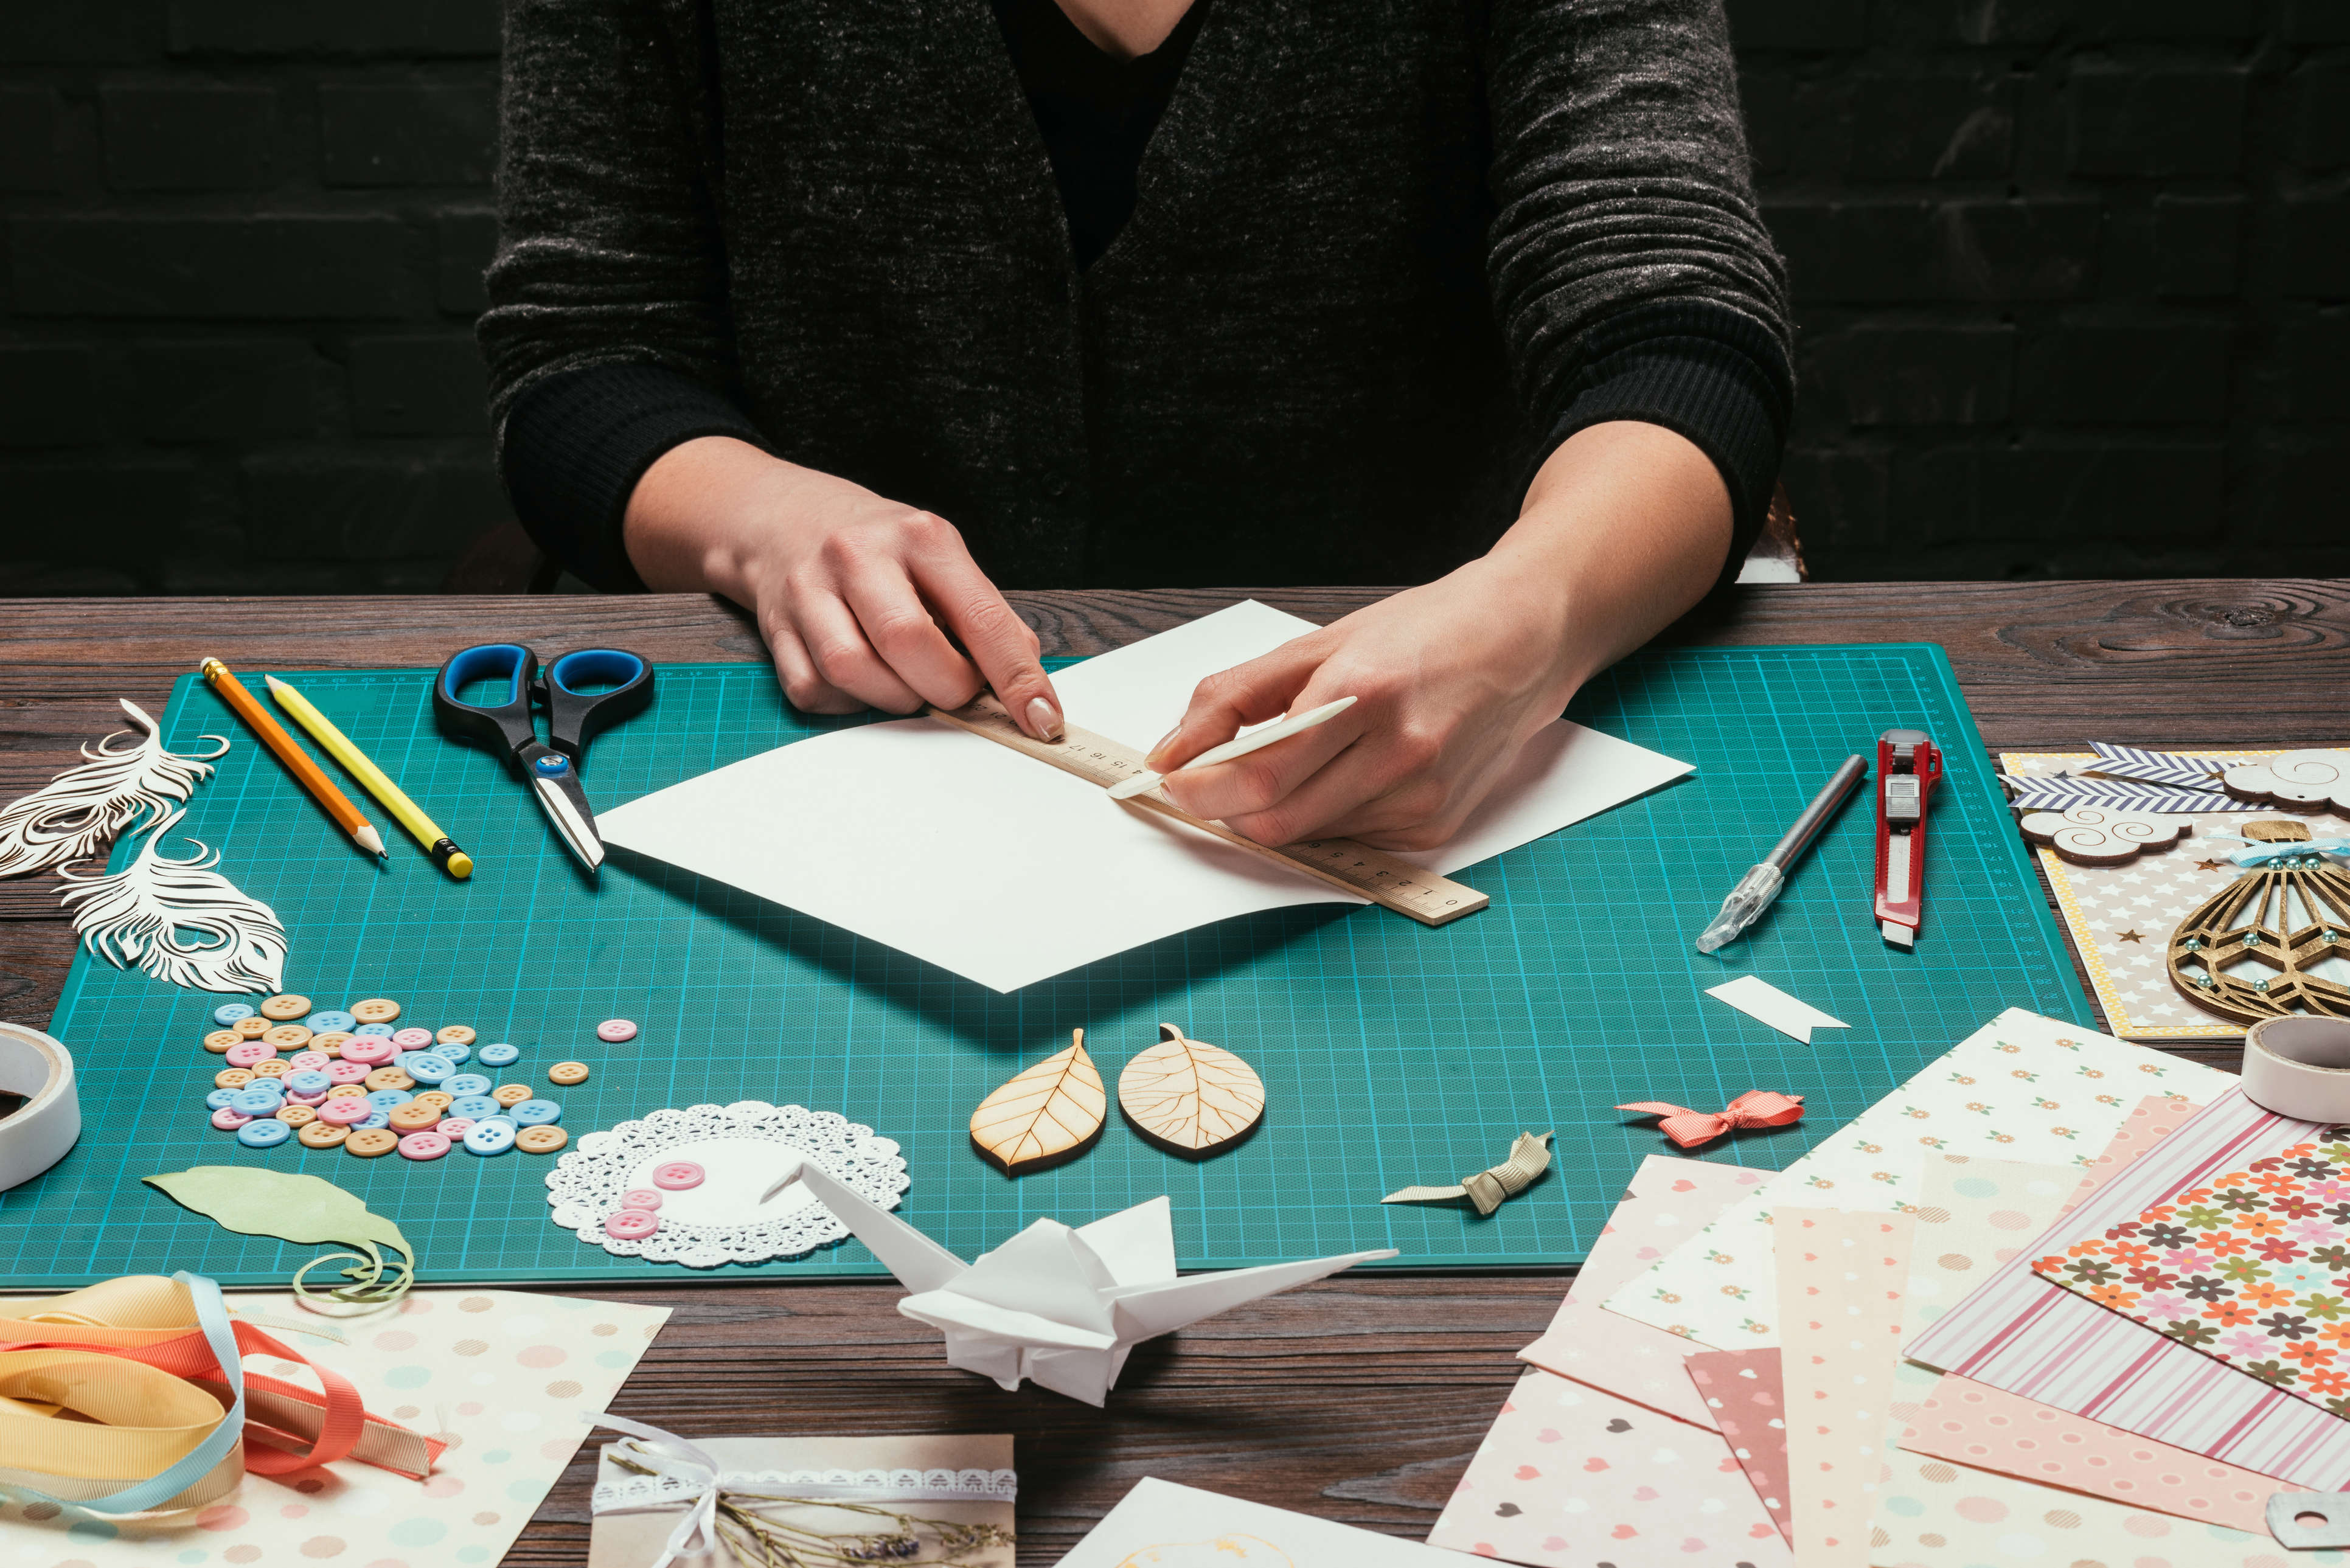
[[[1612,1110],[1622,1100],[1718,1110],[1746,1088],[1800,1093],[1800,1126],[1699,1154],[1777,1168],[2005,1006],[2092,1018],[1936,646],[1640,656],[1593,682],[1572,717],[1697,773],[1459,872],[1492,896],[1485,912],[1441,931],[1372,907],[1253,914],[1010,997],[625,853],[590,884],[494,757],[435,733],[432,672],[282,675],[479,863],[456,884],[404,837],[381,867],[345,849],[219,698],[181,679],[169,745],[235,741],[181,830],[284,919],[287,990],[317,1006],[392,997],[404,1023],[515,1041],[524,1058],[498,1077],[526,1070],[562,1100],[573,1138],[663,1105],[844,1112],[905,1145],[905,1218],[966,1258],[1039,1215],[1083,1222],[1166,1192],[1187,1267],[1377,1246],[1419,1267],[1577,1262],[1640,1157],[1671,1150],[1647,1119]],[[244,679],[258,689],[261,670]],[[792,715],[764,665],[667,665],[658,682],[651,710],[595,743],[592,799],[634,799],[844,724]],[[1918,950],[1875,933],[1873,820],[1856,797],[1755,936],[1701,957],[1690,938],[1730,884],[1847,752],[1873,757],[1894,724],[1927,729],[1948,757]],[[1704,994],[1741,973],[1852,1027],[1802,1046]],[[219,1001],[75,959],[52,1032],[80,1063],[85,1133],[54,1171],[0,1194],[5,1284],[169,1269],[284,1281],[317,1248],[235,1237],[139,1185],[223,1161],[341,1182],[407,1229],[428,1281],[710,1276],[557,1229],[545,1159],[240,1147],[202,1110],[219,1058],[197,1041]],[[599,1044],[595,1025],[613,1016],[642,1034]],[[1022,1180],[973,1154],[973,1105],[1074,1025],[1114,1077],[1159,1020],[1255,1063],[1271,1110],[1243,1147],[1189,1164],[1114,1121],[1083,1159]],[[564,1058],[595,1077],[552,1091],[545,1070]],[[1492,1218],[1379,1204],[1499,1161],[1520,1128],[1556,1128],[1558,1159]],[[848,1241],[717,1276],[872,1272]]]

